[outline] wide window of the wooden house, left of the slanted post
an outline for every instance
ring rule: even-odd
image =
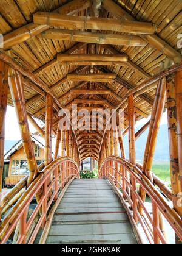
[[[12,175],[27,175],[29,174],[29,167],[26,160],[13,160]]]

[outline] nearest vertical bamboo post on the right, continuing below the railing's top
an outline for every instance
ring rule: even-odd
[[[135,149],[135,108],[134,108],[134,97],[133,95],[129,96],[128,99],[128,115],[129,115],[129,158],[130,163],[136,165],[136,149]],[[135,222],[138,222],[137,218],[137,199],[135,196],[136,191],[136,182],[133,177],[131,177],[132,183],[132,201],[133,201],[133,216]]]

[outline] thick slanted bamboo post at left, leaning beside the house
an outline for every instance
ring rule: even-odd
[[[38,173],[38,166],[35,159],[33,144],[30,136],[29,124],[27,121],[22,76],[18,74],[17,71],[10,68],[8,82],[12,94],[16,116],[18,118],[19,129],[21,132],[21,138],[24,146],[24,152],[27,158],[27,164],[29,166],[29,179],[27,181],[27,185],[29,186],[33,178]]]

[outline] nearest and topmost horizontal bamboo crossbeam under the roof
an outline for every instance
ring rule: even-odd
[[[155,26],[152,23],[139,21],[123,21],[110,18],[96,18],[87,16],[67,16],[58,13],[38,12],[33,15],[34,24],[63,26],[67,29],[95,29],[130,34],[155,33]]]

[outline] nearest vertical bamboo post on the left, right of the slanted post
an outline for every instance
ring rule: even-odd
[[[52,161],[52,119],[53,119],[53,98],[46,95],[45,110],[45,166]]]

